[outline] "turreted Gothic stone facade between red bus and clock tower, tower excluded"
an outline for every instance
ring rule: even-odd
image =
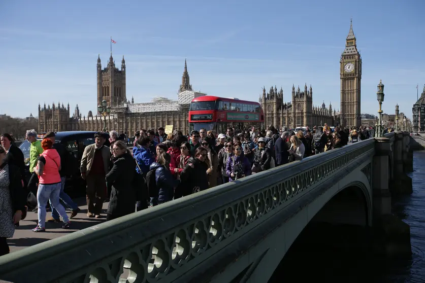
[[[291,102],[284,102],[283,89],[277,90],[276,86],[271,87],[266,93],[263,88],[263,95],[259,98],[259,103],[264,111],[266,126],[274,125],[277,128],[288,127],[313,127],[316,125],[335,125],[336,113],[332,113],[332,105],[326,108],[324,102],[321,107],[313,106],[313,89],[307,90],[307,84],[304,91],[292,85]]]

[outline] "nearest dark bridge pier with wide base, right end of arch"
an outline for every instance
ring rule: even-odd
[[[377,252],[387,256],[411,257],[410,226],[391,214],[391,193],[389,192],[390,142],[385,137],[375,139],[372,174],[375,246]],[[394,150],[396,149],[395,147]],[[397,150],[395,153],[397,153]],[[394,173],[397,176],[397,171]]]

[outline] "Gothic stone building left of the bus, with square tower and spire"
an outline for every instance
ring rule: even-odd
[[[126,99],[125,91],[125,61],[122,58],[121,70],[115,67],[111,57],[107,67],[102,69],[100,56],[97,58],[97,105],[105,99],[111,106],[111,114],[106,117],[106,128],[130,135],[140,129],[157,129],[166,125],[174,125],[183,134],[189,131],[188,112],[190,101],[194,97],[204,95],[194,92],[190,85],[186,61],[179,87],[178,100],[155,98],[152,102],[134,103]],[[96,106],[97,106],[96,105]],[[97,110],[96,110],[97,112]],[[39,105],[39,132],[48,131],[101,131],[104,120],[101,115],[93,116],[89,111],[87,117],[80,114],[78,105],[70,117],[70,107],[52,108]]]

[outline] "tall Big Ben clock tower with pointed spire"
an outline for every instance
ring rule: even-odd
[[[341,125],[360,127],[360,87],[362,80],[362,58],[357,50],[352,20],[345,40],[345,49],[340,60],[341,74]]]

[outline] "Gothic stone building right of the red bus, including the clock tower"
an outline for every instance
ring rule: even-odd
[[[362,124],[360,109],[360,87],[362,79],[362,59],[357,50],[352,22],[345,40],[345,49],[340,58],[341,80],[341,111],[332,110],[332,105],[326,107],[324,101],[321,107],[313,106],[313,90],[304,86],[304,91],[292,85],[291,101],[284,102],[283,90],[271,87],[268,92],[263,88],[259,103],[264,111],[266,125],[275,127],[296,128],[302,126],[340,125],[344,127],[359,127]]]

